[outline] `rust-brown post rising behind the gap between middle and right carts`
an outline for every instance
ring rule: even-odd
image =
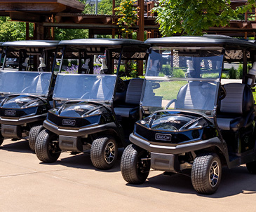
[[[139,10],[139,21],[137,22],[137,25],[139,27],[137,31],[137,39],[140,41],[144,41],[144,0],[138,0],[137,1],[138,6],[140,7]],[[139,60],[137,62],[137,72],[139,76],[143,76],[143,61]]]

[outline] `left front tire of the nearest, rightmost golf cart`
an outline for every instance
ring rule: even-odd
[[[149,153],[134,144],[128,145],[121,157],[121,173],[123,179],[132,184],[141,184],[149,176],[150,160],[142,162]]]

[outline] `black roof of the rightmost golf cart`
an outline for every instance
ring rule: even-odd
[[[164,38],[149,38],[145,43],[161,46],[222,46],[226,49],[256,49],[256,44],[222,35],[204,36],[173,36]]]

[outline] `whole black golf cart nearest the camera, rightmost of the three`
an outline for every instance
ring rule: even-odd
[[[249,72],[253,74],[247,70],[247,63],[256,60],[255,43],[210,35],[151,38],[145,43],[151,48],[141,120],[121,158],[124,180],[143,183],[151,168],[188,174],[197,192],[212,194],[220,185],[222,166],[246,164],[256,174],[251,89],[256,67]],[[240,83],[224,84],[224,62],[243,63]]]

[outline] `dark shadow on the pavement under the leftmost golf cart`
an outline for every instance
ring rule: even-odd
[[[10,143],[11,142],[11,143]],[[34,153],[29,148],[29,141],[27,139],[22,139],[19,141],[8,141],[8,144],[4,143],[0,146],[0,150],[6,150],[9,152],[16,152],[16,153]]]

